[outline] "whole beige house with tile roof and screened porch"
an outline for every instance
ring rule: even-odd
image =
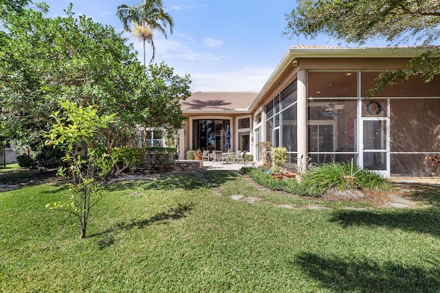
[[[430,50],[426,48],[426,50]],[[285,146],[289,163],[354,162],[382,175],[431,175],[440,153],[440,79],[411,78],[365,98],[380,72],[406,65],[417,47],[290,47],[259,93],[198,92],[182,103],[189,149]]]

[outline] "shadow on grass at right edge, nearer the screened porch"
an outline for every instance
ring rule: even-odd
[[[440,208],[389,210],[338,210],[330,219],[343,227],[382,226],[440,237]]]

